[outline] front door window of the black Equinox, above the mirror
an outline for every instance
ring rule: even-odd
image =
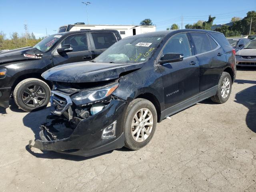
[[[184,58],[192,56],[186,33],[172,36],[163,49],[163,54],[166,53],[181,53]]]

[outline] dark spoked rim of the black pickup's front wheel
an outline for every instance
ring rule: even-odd
[[[29,107],[40,107],[46,100],[46,91],[40,85],[30,85],[22,91],[22,102]]]

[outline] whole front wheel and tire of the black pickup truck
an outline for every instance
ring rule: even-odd
[[[21,81],[13,92],[16,105],[26,112],[46,107],[50,101],[50,95],[49,86],[36,78]]]

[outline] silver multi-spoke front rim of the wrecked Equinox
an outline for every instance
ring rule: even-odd
[[[132,138],[136,142],[145,141],[152,132],[153,121],[152,112],[148,108],[138,110],[132,119]]]

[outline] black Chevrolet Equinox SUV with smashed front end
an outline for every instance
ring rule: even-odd
[[[228,100],[235,50],[219,32],[152,32],[42,76],[54,84],[52,112],[40,126],[41,140],[30,140],[30,147],[80,156],[138,150],[164,118],[206,98]]]

